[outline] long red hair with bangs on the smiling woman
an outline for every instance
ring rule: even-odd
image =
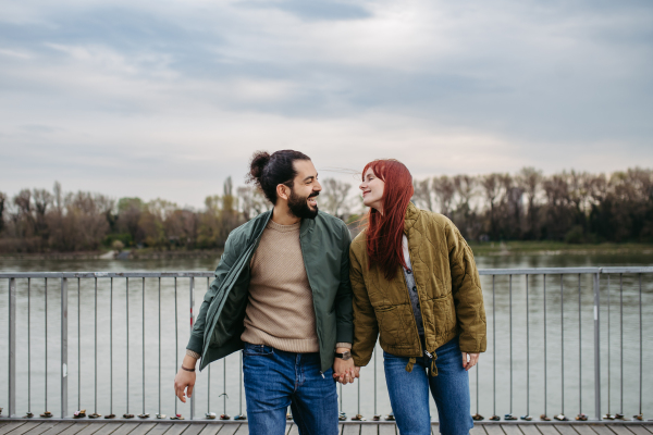
[[[404,221],[406,209],[412,198],[412,176],[404,163],[398,160],[374,160],[362,170],[362,178],[368,169],[371,169],[385,186],[381,197],[383,214],[370,208],[367,215],[367,252],[372,263],[379,264],[385,278],[391,281],[397,273],[401,264],[406,268],[402,237],[404,235]]]

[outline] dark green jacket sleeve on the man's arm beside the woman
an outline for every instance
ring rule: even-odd
[[[354,338],[354,323],[352,320],[352,285],[349,283],[349,245],[352,234],[343,223],[341,247],[341,276],[335,295],[335,341],[340,344],[352,343]]]

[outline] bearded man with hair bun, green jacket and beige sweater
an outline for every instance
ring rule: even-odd
[[[174,386],[182,401],[200,369],[243,350],[250,434],[337,434],[333,374],[353,382],[347,226],[318,210],[322,187],[298,151],[256,152],[249,179],[274,204],[234,229],[205,296]]]

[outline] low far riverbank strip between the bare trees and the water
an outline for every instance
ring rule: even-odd
[[[477,257],[495,256],[588,256],[588,254],[653,254],[653,244],[565,244],[562,241],[485,241],[469,244]],[[159,260],[176,258],[218,259],[222,249],[155,250],[150,248],[86,252],[0,253],[0,259],[16,260]]]

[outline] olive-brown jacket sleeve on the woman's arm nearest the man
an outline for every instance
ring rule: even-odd
[[[354,345],[352,357],[357,366],[365,366],[372,358],[379,337],[379,323],[370,302],[360,262],[349,250],[352,289],[354,291]]]

